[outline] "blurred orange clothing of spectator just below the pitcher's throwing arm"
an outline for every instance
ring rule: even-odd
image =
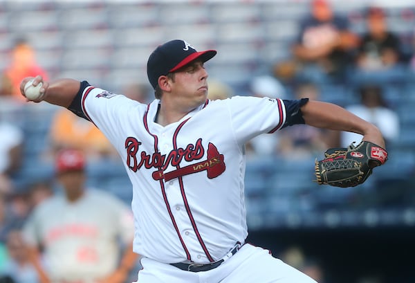
[[[109,140],[93,123],[67,109],[59,109],[52,119],[49,131],[52,156],[61,149],[79,149],[89,160],[118,156]]]

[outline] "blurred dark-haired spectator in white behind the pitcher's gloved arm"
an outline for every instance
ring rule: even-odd
[[[383,100],[382,88],[380,86],[362,86],[359,90],[360,104],[346,107],[351,113],[376,125],[385,138],[386,145],[395,142],[400,132],[400,121],[398,113],[387,106]],[[341,145],[347,147],[352,142],[360,143],[362,135],[342,132]]]

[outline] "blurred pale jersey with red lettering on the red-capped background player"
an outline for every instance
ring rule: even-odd
[[[119,241],[133,238],[131,209],[107,192],[86,190],[70,203],[57,194],[41,203],[23,230],[33,246],[44,246],[51,282],[94,282],[116,270]]]

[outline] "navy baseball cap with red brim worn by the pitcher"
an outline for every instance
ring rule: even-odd
[[[196,51],[193,46],[181,39],[174,39],[160,45],[151,53],[147,61],[147,77],[156,89],[158,77],[177,71],[190,62],[201,59],[206,62],[216,55],[215,50]]]

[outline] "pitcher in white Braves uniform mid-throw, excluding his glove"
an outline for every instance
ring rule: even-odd
[[[353,131],[385,148],[378,128],[335,104],[234,96],[207,100],[205,62],[183,40],[158,46],[147,76],[156,99],[140,104],[86,81],[42,83],[39,99],[93,122],[118,150],[133,184],[139,283],[311,283],[246,243],[245,143],[295,124]],[[225,74],[224,74],[225,75]],[[21,82],[21,93],[32,77]]]

